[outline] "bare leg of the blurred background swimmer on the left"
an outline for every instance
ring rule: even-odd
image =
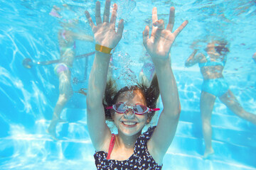
[[[56,137],[56,125],[59,122],[63,122],[63,120],[60,119],[60,113],[65,104],[70,100],[71,96],[73,96],[73,90],[70,83],[70,71],[60,72],[58,76],[60,81],[60,95],[53,111],[53,118],[50,121],[48,129],[46,130],[46,132],[48,132],[54,140],[58,140]]]

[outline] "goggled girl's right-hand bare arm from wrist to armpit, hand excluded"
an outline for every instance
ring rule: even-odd
[[[170,60],[169,58],[167,61],[154,61],[164,110],[161,112],[156,129],[147,146],[152,157],[158,158],[159,162],[164,158],[164,154],[174,139],[181,113],[176,79]]]

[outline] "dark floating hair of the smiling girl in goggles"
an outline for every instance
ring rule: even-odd
[[[146,86],[146,82],[142,81],[141,83],[137,83],[137,85],[134,86],[125,86],[124,88],[117,91],[117,86],[115,85],[115,82],[112,79],[109,79],[106,84],[105,89],[105,95],[103,98],[103,106],[106,108],[107,106],[112,106],[114,103],[117,102],[117,98],[120,94],[124,93],[125,91],[135,91],[139,90],[142,92],[142,95],[145,98],[146,106],[149,108],[156,108],[156,101],[159,98],[160,90],[159,90],[159,84],[156,77],[156,74],[154,74],[153,79],[151,80],[151,84],[149,87]],[[105,118],[106,120],[113,121],[111,117],[112,110],[111,109],[105,109]],[[155,114],[155,111],[151,111],[148,114],[148,120],[149,122],[153,118]]]

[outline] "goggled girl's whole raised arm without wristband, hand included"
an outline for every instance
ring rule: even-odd
[[[181,104],[178,97],[176,80],[171,69],[171,57],[169,53],[176,36],[186,27],[188,21],[184,21],[181,26],[172,31],[174,26],[174,13],[175,9],[171,7],[169,23],[165,29],[164,21],[158,20],[157,9],[153,8],[151,37],[149,38],[149,26],[146,26],[143,32],[144,46],[154,62],[164,106],[156,129],[147,143],[149,153],[159,164],[162,163],[164,154],[166,154],[167,149],[174,139],[178,118],[181,113]]]

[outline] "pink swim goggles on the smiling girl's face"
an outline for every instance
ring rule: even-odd
[[[132,113],[137,114],[137,115],[143,115],[146,112],[149,111],[159,111],[160,108],[148,108],[142,104],[135,104],[133,106],[129,106],[126,103],[117,103],[114,104],[113,106],[108,106],[106,109],[114,109],[117,113],[125,113],[128,111],[128,109],[132,109]]]

